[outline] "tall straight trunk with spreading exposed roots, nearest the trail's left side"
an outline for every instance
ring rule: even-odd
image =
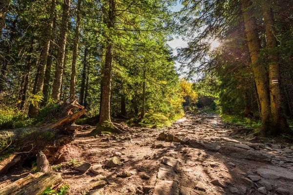
[[[109,0],[109,15],[107,21],[108,29],[115,28],[115,0]],[[111,36],[111,35],[108,35]],[[112,81],[112,62],[114,55],[113,38],[108,37],[106,42],[105,67],[103,76],[102,105],[100,114],[100,125],[111,122],[110,98]]]

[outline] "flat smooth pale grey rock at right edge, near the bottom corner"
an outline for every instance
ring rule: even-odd
[[[267,179],[287,179],[293,181],[293,173],[285,168],[272,167],[272,169],[257,169],[257,174]]]

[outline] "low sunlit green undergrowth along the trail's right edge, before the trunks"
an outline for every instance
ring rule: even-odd
[[[230,122],[232,124],[241,125],[243,127],[258,128],[261,126],[260,120],[254,120],[254,119],[247,118],[247,117],[223,114],[222,118],[225,122]]]

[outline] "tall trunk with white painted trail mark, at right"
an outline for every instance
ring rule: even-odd
[[[277,39],[275,38],[274,19],[271,8],[271,0],[262,0],[262,10],[265,22],[268,57],[270,61],[270,96],[271,96],[271,129],[269,135],[287,133],[289,126],[283,108],[283,97],[281,91],[281,71],[278,63]]]

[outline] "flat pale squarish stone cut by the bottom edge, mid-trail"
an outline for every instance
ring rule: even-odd
[[[175,181],[158,180],[152,195],[179,195],[178,184]]]

